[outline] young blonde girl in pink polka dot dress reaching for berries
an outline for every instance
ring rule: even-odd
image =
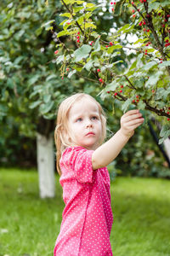
[[[106,168],[144,122],[139,110],[122,115],[106,143],[105,113],[92,96],[77,93],[59,106],[54,132],[65,209],[54,256],[111,256],[110,176]],[[102,144],[103,143],[103,144]]]

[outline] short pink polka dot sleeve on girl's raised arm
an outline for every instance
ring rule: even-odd
[[[93,183],[94,170],[92,167],[92,154],[94,150],[88,150],[82,147],[66,148],[62,155],[62,161],[70,166],[74,172],[77,182]]]

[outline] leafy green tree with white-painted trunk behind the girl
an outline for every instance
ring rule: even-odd
[[[54,63],[48,63],[55,43],[43,22],[60,12],[61,4],[51,1],[47,9],[43,1],[3,1],[0,9],[1,121],[8,124],[12,116],[20,135],[37,137],[40,195],[52,197],[56,106],[76,90],[65,88]]]

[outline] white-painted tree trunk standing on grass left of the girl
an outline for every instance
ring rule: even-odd
[[[40,197],[54,197],[54,139],[37,133],[37,168]]]

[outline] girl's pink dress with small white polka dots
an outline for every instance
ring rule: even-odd
[[[110,176],[93,170],[94,150],[66,148],[60,160],[65,209],[54,256],[111,256]]]

